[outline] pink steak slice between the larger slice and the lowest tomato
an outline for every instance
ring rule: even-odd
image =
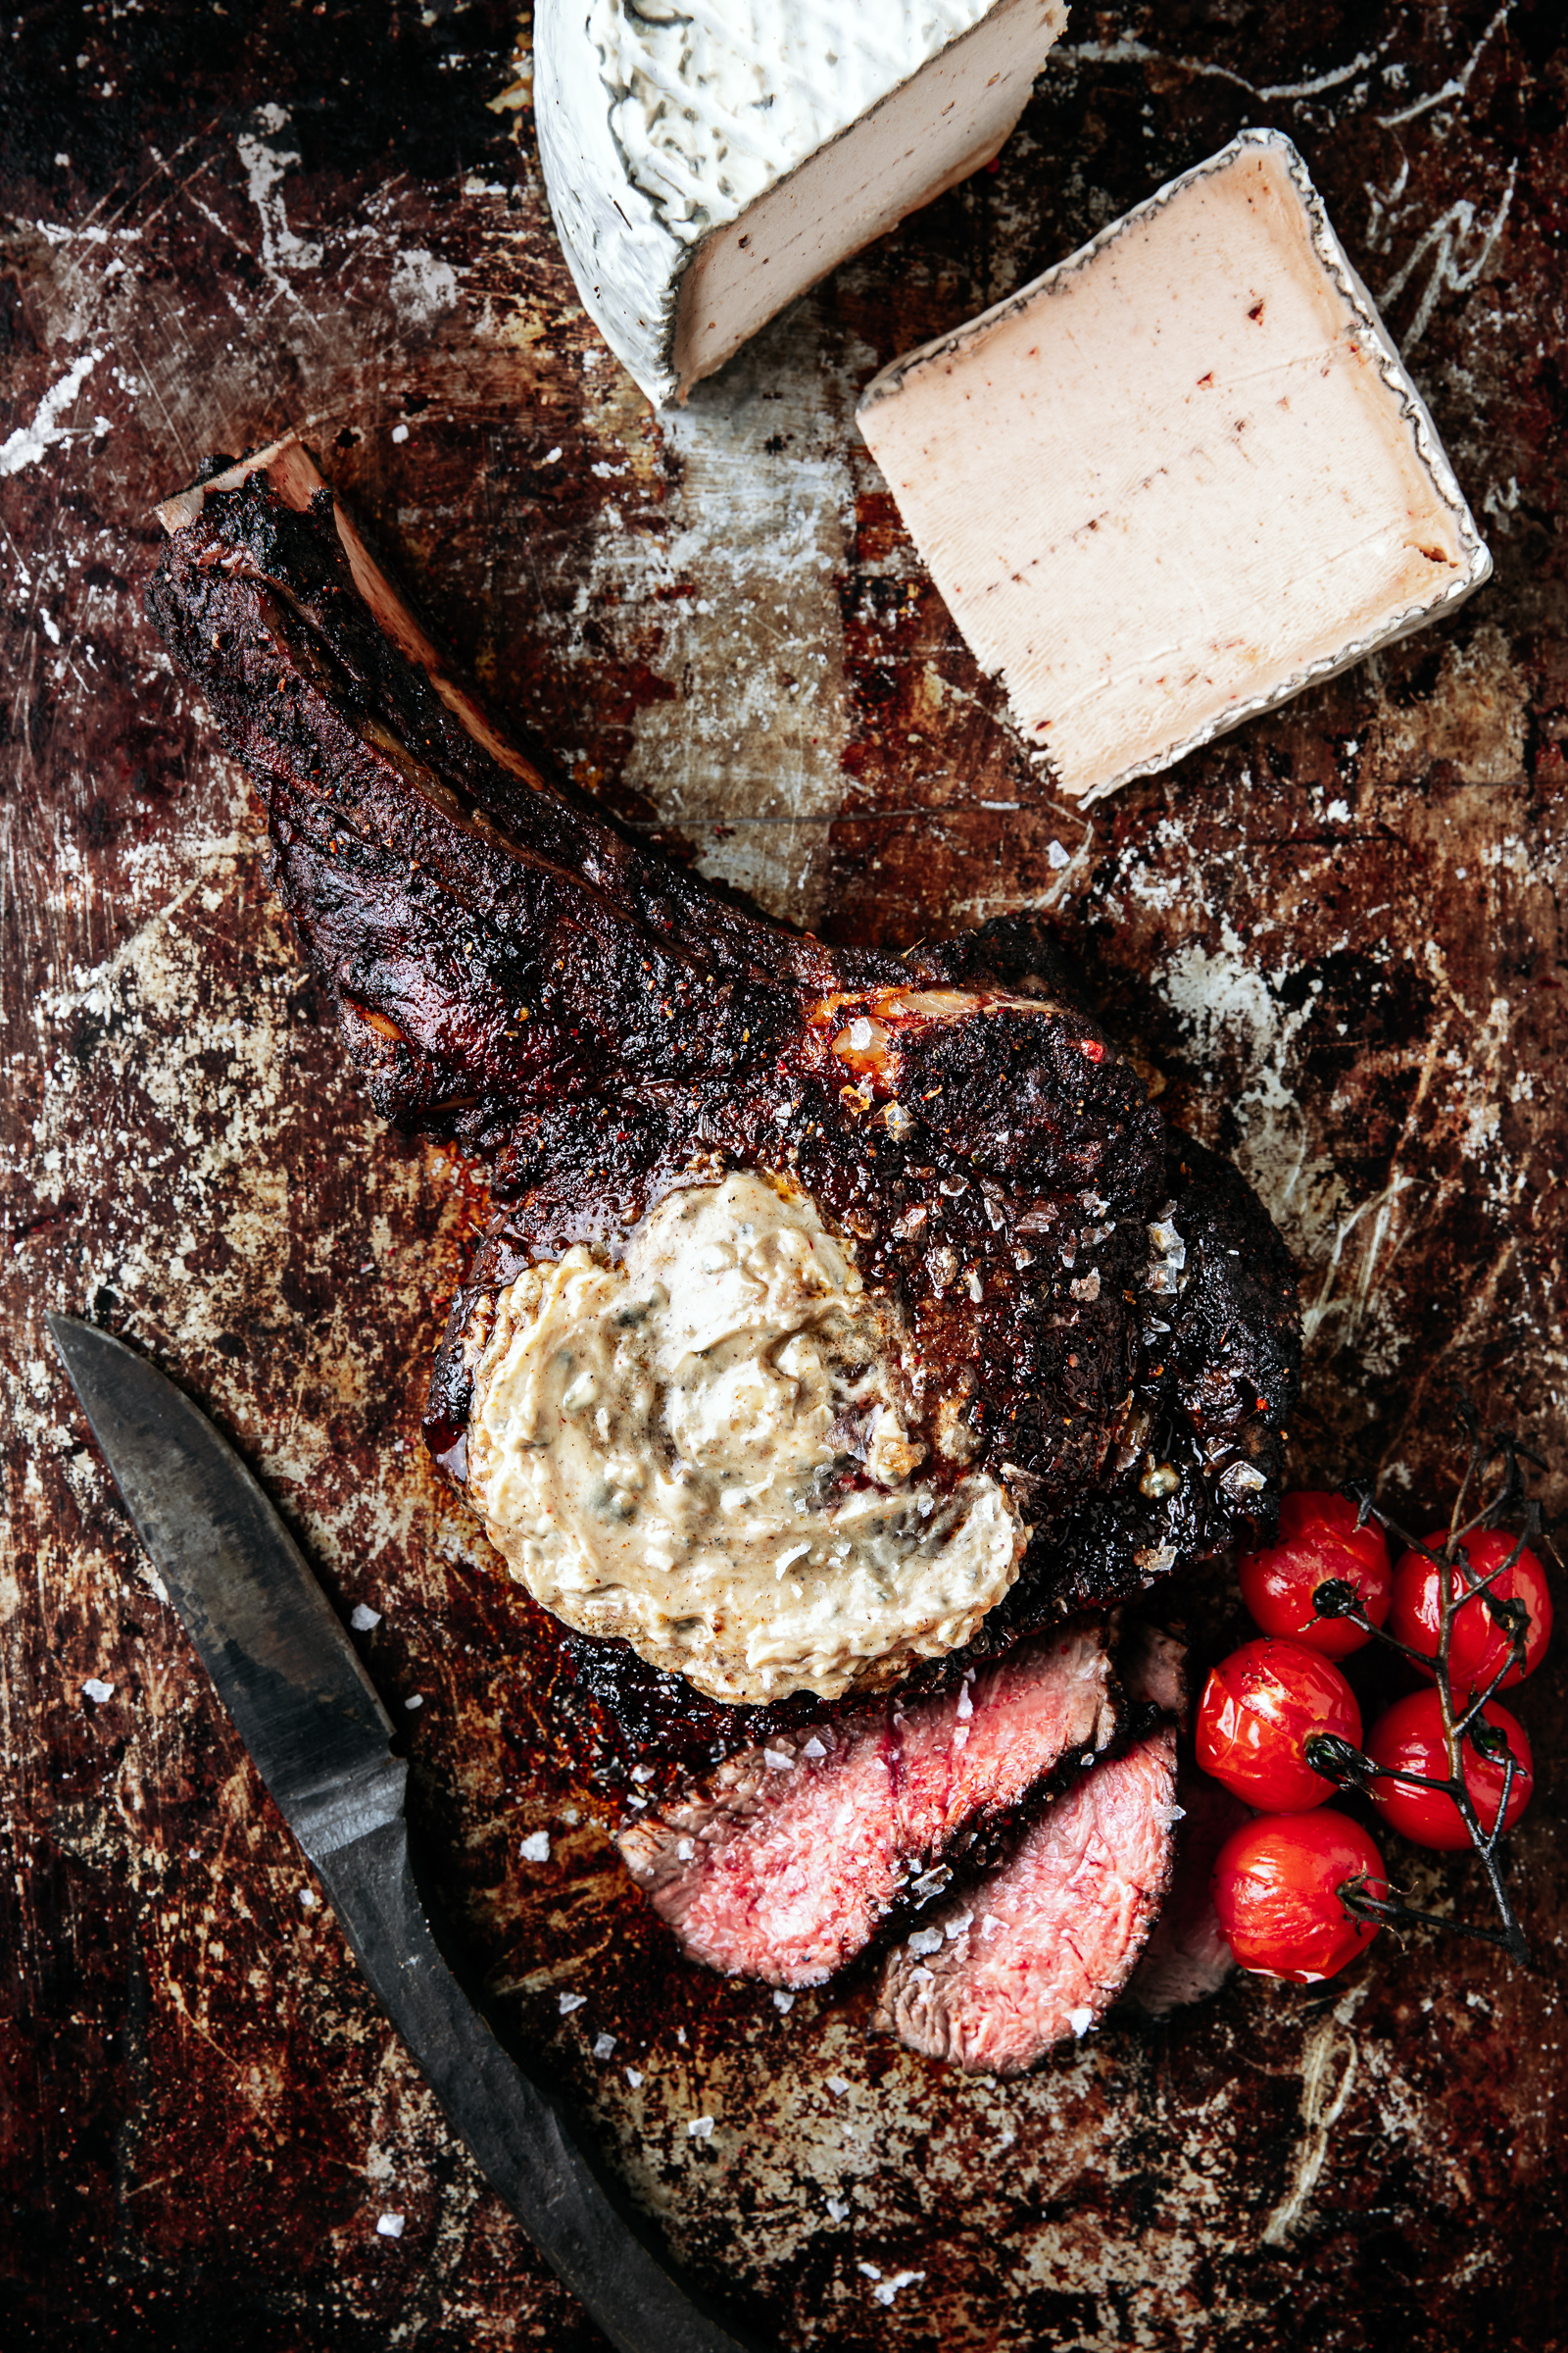
[[[1180,1647],[1150,1633],[1128,1697],[1180,1706]],[[1175,1722],[1056,1798],[997,1871],[966,1875],[886,1960],[875,2026],[976,2075],[1020,2075],[1114,2002],[1171,1878]]]

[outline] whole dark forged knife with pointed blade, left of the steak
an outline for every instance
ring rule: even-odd
[[[679,2285],[458,1984],[414,1880],[393,1720],[273,1504],[146,1358],[47,1325],[219,1699],[491,2188],[618,2353],[757,2353]]]

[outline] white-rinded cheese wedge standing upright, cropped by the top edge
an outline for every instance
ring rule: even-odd
[[[538,0],[550,209],[649,400],[987,162],[1065,21],[1065,0]]]

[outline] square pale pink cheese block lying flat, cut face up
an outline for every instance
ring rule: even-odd
[[[1018,725],[1093,800],[1450,612],[1490,572],[1279,132],[1241,132],[860,400]]]

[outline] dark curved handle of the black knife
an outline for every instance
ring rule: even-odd
[[[693,2306],[611,2200],[557,2104],[529,2082],[470,2002],[425,1918],[407,1821],[313,1861],[449,2125],[618,2353],[757,2353]]]

